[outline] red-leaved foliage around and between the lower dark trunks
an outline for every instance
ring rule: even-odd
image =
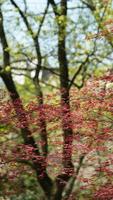
[[[73,191],[77,199],[92,197],[92,199],[109,200],[112,197],[112,81],[113,74],[108,72],[104,77],[90,79],[80,91],[73,88],[70,92],[71,114],[69,116],[67,112],[65,125],[69,124],[68,121],[71,119],[70,126],[74,131],[72,156],[75,166]],[[44,143],[38,135],[40,131],[38,113],[39,110],[45,113],[50,146],[46,165],[48,173],[54,180],[62,170],[61,113],[67,108],[65,104],[61,107],[57,99],[53,102],[52,95],[45,98],[46,104],[42,107],[39,107],[35,100],[26,104],[25,112],[40,151]],[[41,157],[35,155],[33,147],[23,144],[18,129],[24,126],[24,119],[23,124],[18,123],[12,103],[5,101],[1,106],[1,111],[2,124],[10,127],[10,132],[7,129],[2,130],[5,139],[1,141],[1,195],[8,195],[11,199],[38,199],[35,195],[38,193],[40,196],[41,193],[32,169],[32,160],[40,162]],[[12,131],[13,134],[11,134]],[[79,163],[79,158],[82,156],[83,160]],[[76,174],[77,166],[80,167],[78,174]],[[66,169],[63,170],[65,173]],[[68,173],[72,172],[69,170]]]

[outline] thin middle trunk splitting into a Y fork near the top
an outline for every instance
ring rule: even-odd
[[[20,16],[22,17],[23,22],[25,23],[26,28],[29,31],[31,38],[33,40],[33,43],[34,43],[34,47],[35,47],[35,51],[36,51],[36,57],[37,57],[37,67],[36,67],[35,77],[33,78],[33,83],[34,83],[34,86],[35,86],[35,89],[36,89],[38,105],[39,105],[39,107],[42,107],[43,106],[43,93],[42,93],[41,86],[40,86],[40,83],[39,83],[39,72],[41,70],[42,56],[41,56],[41,50],[40,50],[40,44],[39,44],[39,34],[40,34],[40,31],[41,31],[41,27],[44,23],[45,16],[47,14],[49,4],[47,3],[47,7],[45,9],[43,19],[40,23],[40,26],[39,26],[39,29],[37,31],[36,36],[34,36],[34,32],[32,30],[32,27],[29,24],[29,21],[28,21],[26,15],[24,14],[24,12],[20,9],[20,7],[16,4],[16,2],[14,0],[10,0],[10,1],[11,1],[12,5],[15,8],[18,9],[18,12],[19,12]],[[43,115],[43,118],[42,118],[42,115]],[[46,157],[47,157],[47,154],[48,154],[46,121],[45,121],[45,118],[44,118],[44,113],[41,113],[40,111],[39,111],[39,129],[40,129],[40,137],[41,137],[41,140],[42,140],[42,143],[43,143],[43,145],[41,146],[42,147],[42,153],[43,153],[43,157],[45,158],[45,163],[46,163]]]

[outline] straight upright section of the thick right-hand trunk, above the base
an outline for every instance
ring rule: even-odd
[[[61,89],[61,107],[62,110],[62,128],[64,136],[63,147],[63,165],[67,170],[67,176],[69,172],[74,172],[72,164],[72,141],[73,130],[71,126],[70,118],[70,97],[69,97],[69,70],[66,54],[66,21],[67,21],[67,1],[61,0],[61,16],[63,22],[58,23],[58,60],[60,67],[60,89]]]

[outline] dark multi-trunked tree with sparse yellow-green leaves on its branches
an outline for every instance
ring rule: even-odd
[[[48,199],[50,199],[50,198],[62,199],[63,194],[66,194],[65,196],[67,196],[66,198],[68,198],[68,196],[71,192],[71,189],[72,189],[71,185],[73,185],[73,183],[75,182],[75,179],[77,178],[77,175],[80,171],[81,165],[84,160],[84,155],[81,155],[80,159],[78,161],[79,165],[78,165],[78,168],[76,169],[76,175],[74,176],[74,165],[72,163],[72,147],[73,147],[72,141],[73,141],[74,128],[73,128],[73,120],[71,117],[71,115],[72,115],[71,103],[72,102],[70,100],[70,88],[73,85],[76,86],[77,88],[81,88],[83,86],[85,80],[87,79],[87,77],[90,76],[92,73],[92,70],[90,67],[90,63],[92,62],[92,60],[93,59],[95,60],[95,58],[97,59],[96,64],[95,64],[95,66],[96,66],[97,62],[100,62],[100,60],[102,60],[103,57],[101,57],[101,55],[99,55],[98,57],[95,56],[95,54],[96,54],[95,46],[94,46],[94,49],[91,48],[91,50],[89,52],[87,52],[87,51],[82,52],[82,50],[81,50],[82,48],[80,48],[80,50],[82,52],[80,54],[83,55],[83,58],[80,60],[80,55],[76,54],[76,58],[78,56],[78,60],[80,60],[80,65],[77,66],[77,69],[75,69],[72,79],[70,79],[69,64],[73,61],[71,61],[71,59],[69,60],[68,56],[70,56],[70,57],[72,56],[72,58],[73,58],[75,56],[75,54],[72,55],[71,50],[70,50],[70,53],[68,54],[69,45],[71,45],[71,46],[73,45],[72,41],[69,40],[68,45],[66,46],[67,36],[68,36],[67,31],[68,31],[68,28],[71,26],[71,23],[69,23],[69,22],[70,21],[72,22],[72,20],[67,15],[67,11],[69,10],[67,1],[61,0],[60,4],[57,4],[57,3],[55,3],[54,0],[49,0],[47,2],[47,7],[46,7],[44,13],[42,13],[42,17],[39,17],[38,20],[36,19],[35,15],[31,14],[31,16],[30,16],[30,13],[27,10],[28,8],[26,7],[26,3],[24,4],[25,10],[23,11],[23,9],[21,8],[21,5],[18,6],[18,4],[13,0],[11,0],[10,2],[16,8],[16,14],[17,13],[19,14],[18,16],[20,17],[21,23],[24,22],[23,26],[25,25],[25,30],[24,31],[22,30],[22,32],[25,33],[26,37],[28,34],[28,36],[29,36],[28,43],[30,45],[33,44],[33,50],[28,51],[28,49],[25,50],[23,48],[23,46],[25,45],[24,42],[23,42],[23,44],[22,44],[23,46],[22,46],[20,41],[18,44],[17,40],[15,40],[16,48],[11,49],[11,47],[14,44],[12,45],[10,40],[8,39],[10,34],[5,29],[6,28],[5,21],[4,21],[5,14],[4,14],[3,7],[1,7],[0,38],[1,38],[4,62],[3,62],[3,66],[1,66],[1,68],[0,68],[0,75],[5,83],[5,86],[9,92],[11,99],[12,99],[12,104],[11,103],[9,104],[10,107],[8,107],[8,109],[11,113],[12,113],[12,111],[10,109],[11,108],[14,109],[13,112],[15,113],[19,124],[17,122],[16,123],[18,125],[18,128],[20,128],[22,136],[23,136],[23,140],[22,141],[19,140],[19,143],[22,144],[22,142],[23,142],[24,145],[23,146],[20,145],[20,148],[23,147],[23,149],[25,150],[25,155],[24,155],[24,159],[21,160],[20,157],[21,157],[22,152],[20,152],[20,154],[19,154],[18,151],[20,151],[20,149],[18,149],[16,151],[17,154],[19,154],[18,162],[22,162],[23,166],[24,166],[24,164],[27,164],[30,167],[32,167],[33,170],[35,170],[35,173],[37,175],[37,180],[40,183],[40,185]],[[3,5],[4,5],[4,3],[3,3]],[[43,37],[44,37],[43,34],[42,34],[42,36],[40,36],[40,35],[41,35],[41,31],[43,30],[44,21],[46,20],[46,15],[49,12],[52,12],[51,10],[49,10],[50,5],[52,6],[52,9],[54,12],[54,21],[56,22],[55,25],[57,26],[57,27],[55,27],[55,31],[57,32],[58,40],[57,40],[57,44],[54,46],[56,48],[56,46],[58,45],[58,49],[57,49],[58,50],[58,52],[57,52],[58,72],[55,72],[50,66],[47,66],[47,67],[43,66],[43,62],[42,62],[43,57],[47,59],[47,56],[49,57],[49,55],[48,55],[49,53],[47,52],[47,55],[44,55],[44,53],[43,53],[43,55],[42,55],[41,48],[40,48],[41,42],[39,42],[40,41],[39,39],[43,39]],[[89,4],[86,4],[86,5],[88,6]],[[81,8],[82,8],[82,6],[81,6]],[[92,9],[94,10],[94,7]],[[53,12],[52,12],[52,17],[53,17]],[[29,18],[32,20],[33,25],[30,22]],[[49,17],[47,17],[47,19],[49,19]],[[17,20],[17,18],[15,18],[15,20]],[[36,24],[37,24],[36,20],[38,21],[38,24],[39,24],[38,31],[35,31],[34,22],[36,22]],[[73,24],[73,22],[72,22],[72,24]],[[22,26],[22,29],[23,29],[23,26]],[[72,32],[74,33],[74,31],[72,31]],[[32,42],[30,40],[32,40]],[[76,41],[77,41],[77,37],[76,37]],[[78,42],[78,44],[80,46],[80,42]],[[21,48],[21,46],[22,46],[22,48]],[[15,53],[16,55],[13,52],[15,49],[17,50],[17,54]],[[111,52],[111,49],[109,48],[108,51],[106,50],[105,53],[110,54],[110,52]],[[54,55],[55,53],[56,53],[56,51],[54,51],[54,53],[53,53],[53,58],[55,58],[55,55]],[[97,53],[98,53],[98,51],[97,51]],[[104,55],[104,57],[105,57],[105,55]],[[98,58],[100,59],[99,61],[98,61]],[[47,59],[47,61],[48,60],[49,59]],[[34,64],[35,67],[33,68],[31,66],[31,64],[34,61],[36,61],[36,63]],[[14,67],[15,63],[18,63],[18,65],[20,65],[21,62],[23,62],[25,64],[24,68],[23,68],[23,66],[22,66],[22,68]],[[46,62],[46,63],[48,63],[48,62]],[[73,63],[77,64],[76,60]],[[60,108],[58,107],[58,109],[55,106],[48,106],[45,103],[46,101],[43,96],[43,91],[42,91],[42,87],[41,87],[42,85],[41,85],[41,81],[39,79],[40,71],[43,68],[46,68],[48,71],[51,71],[51,73],[53,73],[59,77],[59,82],[60,82],[59,98],[61,101],[59,103]],[[36,104],[36,102],[31,103],[31,105],[28,107],[29,108],[28,110],[25,109],[25,105],[23,104],[23,102],[20,98],[20,94],[19,94],[19,92],[16,88],[16,85],[15,85],[15,82],[13,80],[12,75],[13,75],[13,73],[15,73],[15,71],[17,72],[17,70],[20,72],[20,74],[21,74],[21,70],[22,70],[23,76],[28,76],[30,78],[30,80],[33,81],[33,85],[35,88],[34,93],[37,97],[38,103],[37,104]],[[26,71],[27,71],[27,73],[26,73]],[[35,72],[34,77],[31,76],[31,74],[30,74],[31,71]],[[80,81],[77,81],[78,77],[80,78]],[[81,84],[78,84],[78,82],[81,82]],[[84,90],[85,90],[85,88],[84,88]],[[80,94],[82,94],[82,92],[80,92]],[[78,95],[78,93],[77,94],[74,93],[73,95],[74,96]],[[51,98],[53,99],[53,97],[51,97]],[[90,99],[90,97],[89,97],[89,99]],[[83,102],[78,101],[77,104],[79,104],[79,103],[83,104]],[[6,102],[6,105],[7,105],[7,102]],[[98,105],[98,102],[97,102],[97,105]],[[7,108],[7,106],[6,106],[6,108]],[[31,114],[29,113],[29,111],[31,112]],[[35,113],[35,111],[36,111],[36,113]],[[54,113],[54,111],[55,111],[55,113]],[[5,112],[8,112],[8,110],[6,109]],[[10,114],[10,112],[9,112],[9,114]],[[49,114],[47,116],[46,113],[48,113],[48,112],[49,112]],[[77,110],[77,112],[78,112],[78,110]],[[53,181],[52,178],[47,173],[47,156],[49,153],[49,151],[48,151],[49,136],[48,136],[47,129],[48,129],[48,123],[49,123],[48,120],[50,120],[50,121],[53,120],[53,116],[51,116],[51,113],[53,114],[53,116],[55,115],[55,118],[59,118],[62,121],[62,126],[60,126],[60,131],[62,130],[62,133],[63,133],[63,152],[62,152],[63,170],[60,174],[56,175],[55,181]],[[32,121],[32,119],[31,119],[33,114],[36,116],[36,120],[34,119],[34,121]],[[50,117],[49,117],[49,115],[50,115]],[[76,111],[73,115],[73,118],[74,117],[77,118]],[[77,123],[79,123],[79,120],[75,122],[76,125],[77,125]],[[32,127],[30,126],[31,122],[32,122]],[[82,119],[80,122],[82,123]],[[35,125],[38,125],[38,128],[37,128],[37,126],[35,127]],[[56,128],[57,128],[57,126],[58,126],[58,124],[56,125]],[[55,130],[56,128],[54,125],[53,130]],[[86,128],[85,125],[84,125],[84,128]],[[52,127],[50,127],[50,130],[52,131]],[[39,137],[33,136],[34,131],[37,131],[37,133],[40,133],[40,138],[41,138],[40,145],[37,145],[37,141],[39,140]],[[27,159],[27,161],[26,161],[26,157],[25,157],[26,154],[27,154],[27,156],[29,154],[31,154],[31,156],[29,155],[30,157],[29,157],[29,159]],[[30,160],[30,162],[28,162],[29,160]],[[68,184],[70,185],[69,189],[66,188],[66,187],[68,187]],[[63,193],[64,191],[65,191],[65,193]]]

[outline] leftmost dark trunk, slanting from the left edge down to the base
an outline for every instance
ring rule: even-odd
[[[32,133],[29,129],[29,124],[27,121],[27,115],[24,110],[24,107],[22,105],[22,101],[20,99],[20,96],[17,92],[16,86],[14,84],[14,81],[12,79],[11,71],[6,70],[7,66],[10,66],[10,54],[7,51],[9,46],[8,42],[6,39],[5,31],[4,31],[4,26],[3,26],[3,16],[2,16],[2,11],[0,9],[0,39],[2,43],[2,48],[3,48],[3,68],[0,68],[0,76],[3,79],[3,82],[10,94],[12,104],[15,109],[15,113],[17,115],[18,121],[20,123],[20,129],[21,133],[24,139],[24,144],[30,145],[34,148],[34,153],[36,156],[40,157],[39,160],[34,160],[32,159],[33,166],[37,175],[38,182],[40,183],[44,193],[46,194],[47,198],[49,199],[51,195],[51,190],[52,190],[52,180],[48,176],[46,172],[46,163],[45,159],[43,156],[40,156],[39,148],[35,143],[35,140],[32,136]]]

